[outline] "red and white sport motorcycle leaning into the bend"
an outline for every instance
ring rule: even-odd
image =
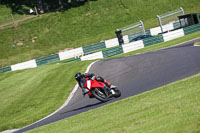
[[[102,102],[107,102],[113,97],[118,98],[121,96],[121,92],[116,86],[111,85],[109,87],[106,83],[91,80],[89,78],[86,78],[84,89],[89,90],[87,94],[90,98],[95,97]]]

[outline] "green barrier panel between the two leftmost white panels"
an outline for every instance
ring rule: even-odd
[[[56,62],[56,61],[59,61],[59,60],[60,60],[59,55],[54,54],[54,55],[49,55],[49,56],[46,56],[46,57],[36,59],[36,64],[37,64],[37,66],[40,66],[40,65]]]

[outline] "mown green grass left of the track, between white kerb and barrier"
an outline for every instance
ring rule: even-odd
[[[91,61],[0,74],[0,131],[31,124],[59,108]],[[81,66],[77,67],[77,66]]]

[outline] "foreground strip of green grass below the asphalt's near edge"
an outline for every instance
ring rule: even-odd
[[[29,133],[200,132],[199,80],[200,74]]]

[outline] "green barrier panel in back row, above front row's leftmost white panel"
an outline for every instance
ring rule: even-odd
[[[94,51],[97,51],[97,50],[100,50],[103,48],[106,48],[105,42],[100,42],[100,43],[84,46],[83,52],[84,52],[84,54],[90,54]]]

